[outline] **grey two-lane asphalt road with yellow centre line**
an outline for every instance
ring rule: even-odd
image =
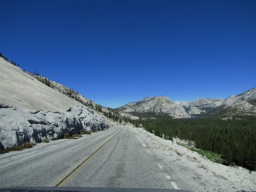
[[[0,186],[180,188],[128,126],[2,154]]]

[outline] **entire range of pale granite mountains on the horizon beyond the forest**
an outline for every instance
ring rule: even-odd
[[[189,118],[191,116],[220,116],[254,115],[256,116],[256,88],[227,99],[196,99],[193,102],[175,101],[168,97],[146,97],[138,102],[117,108],[118,111],[133,115],[148,116],[168,115],[172,118]],[[144,115],[143,115],[144,114]]]

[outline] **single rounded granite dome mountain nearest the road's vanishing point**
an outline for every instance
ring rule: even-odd
[[[182,106],[164,96],[146,97],[138,102],[129,102],[129,104],[117,109],[125,113],[154,113],[156,115],[168,115],[172,118],[190,117]]]

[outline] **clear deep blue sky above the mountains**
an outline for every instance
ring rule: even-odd
[[[103,106],[157,95],[225,99],[256,86],[256,1],[0,6],[0,52]]]

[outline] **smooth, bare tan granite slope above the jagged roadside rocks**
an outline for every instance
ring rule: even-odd
[[[0,102],[31,112],[37,110],[62,112],[70,106],[81,106],[74,99],[56,92],[0,58]]]

